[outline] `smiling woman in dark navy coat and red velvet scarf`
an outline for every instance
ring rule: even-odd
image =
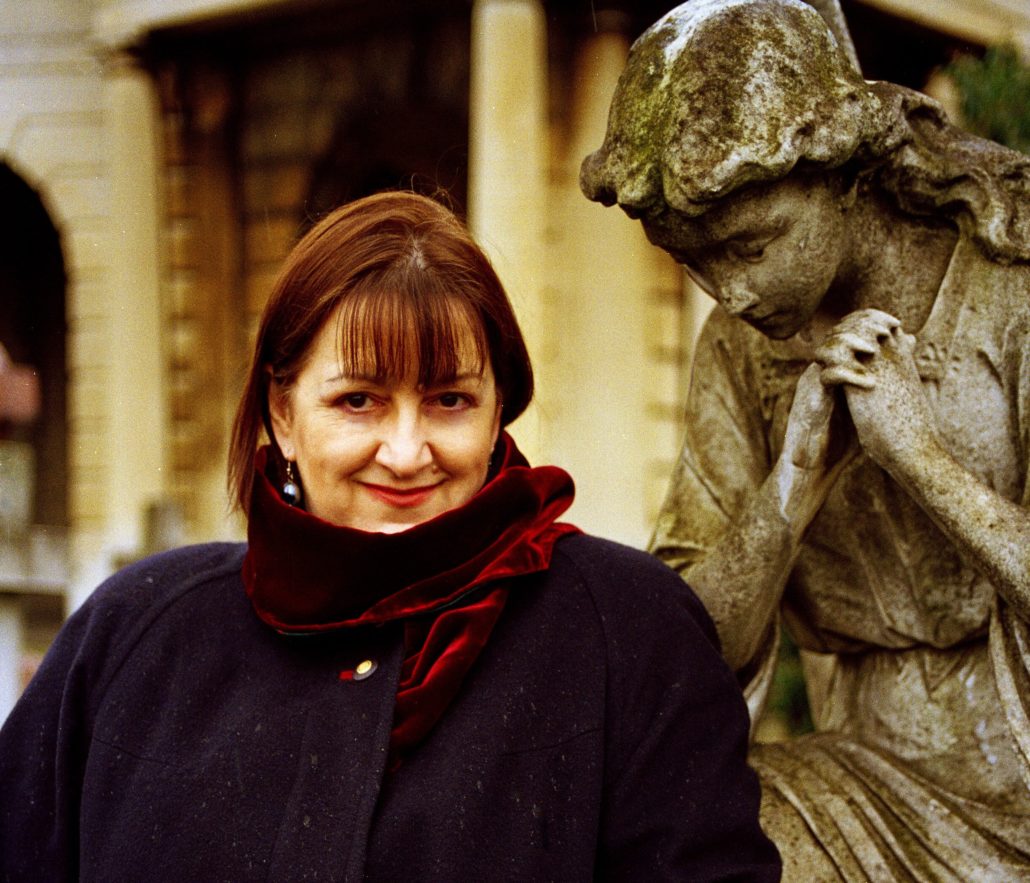
[[[0,737],[0,876],[778,879],[710,620],[556,521],[571,479],[503,432],[531,395],[446,209],[312,229],[236,419],[248,544],[69,621]]]

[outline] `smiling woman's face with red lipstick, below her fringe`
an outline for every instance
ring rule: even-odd
[[[501,431],[489,360],[472,332],[451,382],[347,376],[336,315],[322,327],[291,388],[270,393],[276,441],[297,462],[305,508],[334,524],[386,534],[462,505],[483,486]],[[414,374],[414,372],[409,372]]]

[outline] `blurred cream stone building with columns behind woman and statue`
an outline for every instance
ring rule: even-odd
[[[298,235],[375,190],[468,215],[538,371],[515,436],[574,474],[572,520],[647,541],[708,306],[577,174],[673,5],[0,0],[0,344],[40,386],[33,419],[0,408],[0,717],[113,569],[242,535],[225,451],[256,316]],[[1030,46],[1024,0],[844,6],[866,74],[917,88]]]

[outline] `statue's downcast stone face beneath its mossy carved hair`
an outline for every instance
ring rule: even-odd
[[[727,312],[777,339],[808,325],[848,249],[847,214],[826,175],[749,188],[698,217],[666,208],[642,223]]]

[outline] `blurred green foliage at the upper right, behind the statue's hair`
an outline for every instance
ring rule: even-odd
[[[946,68],[962,94],[970,132],[1030,154],[1030,67],[1010,46],[995,46],[983,59],[963,56]]]

